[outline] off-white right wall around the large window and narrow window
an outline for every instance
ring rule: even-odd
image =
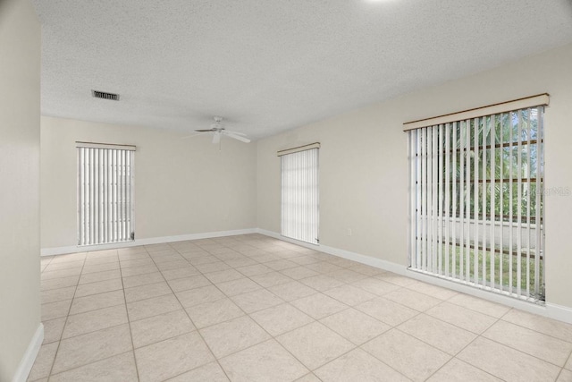
[[[319,141],[320,243],[407,264],[402,123],[548,92],[546,188],[572,188],[572,45],[258,141],[258,227],[280,232],[279,149]],[[349,236],[348,229],[352,235]],[[546,299],[572,308],[572,196],[546,197]]]

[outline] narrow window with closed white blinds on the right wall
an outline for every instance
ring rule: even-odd
[[[282,235],[317,244],[319,143],[278,152],[282,163]]]

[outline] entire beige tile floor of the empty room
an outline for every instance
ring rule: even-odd
[[[43,258],[38,381],[572,381],[572,325],[259,234]]]

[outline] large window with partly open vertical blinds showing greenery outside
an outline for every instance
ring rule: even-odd
[[[544,300],[548,95],[406,123],[411,269]]]

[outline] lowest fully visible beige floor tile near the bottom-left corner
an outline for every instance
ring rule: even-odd
[[[57,374],[104,360],[122,352],[128,352],[132,350],[131,348],[131,336],[127,324],[71,337],[60,343],[55,356],[53,373]]]

